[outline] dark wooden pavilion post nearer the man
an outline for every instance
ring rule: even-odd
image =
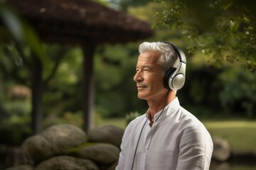
[[[89,132],[92,126],[92,108],[94,103],[94,88],[93,88],[93,55],[95,45],[92,42],[82,42],[83,50],[83,100],[82,111],[83,115],[83,130]]]

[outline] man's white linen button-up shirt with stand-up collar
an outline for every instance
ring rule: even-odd
[[[162,114],[161,111],[156,113],[156,121],[151,127],[146,115],[132,120],[127,126],[116,170],[132,169],[137,144],[133,169],[209,169],[213,152],[210,134],[194,115],[180,106],[178,98],[171,101]]]

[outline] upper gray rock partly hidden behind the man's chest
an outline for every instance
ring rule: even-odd
[[[120,147],[124,130],[114,125],[103,125],[88,132],[88,141],[103,142]]]

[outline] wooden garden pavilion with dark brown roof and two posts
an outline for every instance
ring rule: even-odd
[[[90,130],[93,91],[93,55],[104,43],[125,43],[154,35],[149,23],[90,0],[7,0],[33,26],[43,42],[79,44],[83,61],[83,129]],[[41,60],[34,57],[32,69],[32,128],[42,130]]]

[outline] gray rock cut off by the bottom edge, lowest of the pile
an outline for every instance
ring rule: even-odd
[[[99,168],[87,159],[58,156],[41,162],[36,170],[99,170]]]

